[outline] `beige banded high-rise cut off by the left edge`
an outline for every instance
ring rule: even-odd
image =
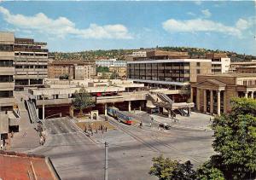
[[[14,110],[14,52],[15,36],[0,32],[0,145],[8,138],[9,131],[19,130],[19,114]]]

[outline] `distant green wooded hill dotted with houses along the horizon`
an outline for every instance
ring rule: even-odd
[[[251,61],[256,59],[253,55],[241,55],[236,52],[224,51],[224,50],[212,50],[201,48],[189,48],[189,47],[156,47],[160,50],[188,52],[193,58],[205,57],[206,53],[226,53],[231,61]],[[63,52],[51,52],[49,55],[53,56],[55,60],[100,60],[100,59],[113,59],[125,60],[125,55],[130,55],[133,51],[139,49],[111,49],[111,50],[86,50],[81,52],[63,53]],[[143,50],[143,49],[142,49]]]

